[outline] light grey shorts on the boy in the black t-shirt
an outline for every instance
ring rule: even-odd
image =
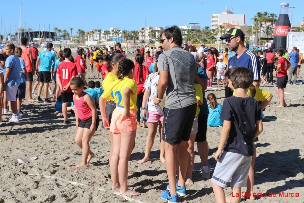
[[[211,181],[223,188],[246,187],[252,156],[223,151],[216,163]]]

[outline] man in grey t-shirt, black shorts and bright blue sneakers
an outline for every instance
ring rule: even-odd
[[[167,88],[164,108],[163,141],[169,186],[161,198],[177,202],[177,194],[186,195],[185,177],[188,166],[187,142],[196,112],[193,55],[181,48],[181,31],[177,26],[164,30],[161,44],[165,51],[158,57],[159,80],[154,103],[161,102]],[[178,150],[179,179],[175,181],[175,150]]]

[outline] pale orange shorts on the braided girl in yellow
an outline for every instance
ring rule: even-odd
[[[112,113],[110,131],[114,134],[126,133],[136,130],[136,111],[130,110],[130,117],[123,115],[124,109],[116,107]]]

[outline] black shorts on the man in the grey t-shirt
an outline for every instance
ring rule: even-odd
[[[196,104],[180,109],[164,108],[163,140],[171,145],[188,141],[196,113]]]

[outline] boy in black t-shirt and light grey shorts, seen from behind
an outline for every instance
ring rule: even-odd
[[[246,187],[254,154],[252,141],[263,131],[263,124],[259,103],[247,95],[247,90],[253,82],[250,69],[235,67],[230,68],[227,73],[230,75],[230,78],[226,78],[228,86],[230,88],[233,86],[236,94],[223,102],[220,118],[224,120],[224,124],[219,148],[214,155],[218,162],[211,183],[216,201],[225,202],[223,188],[231,179],[233,193],[231,202],[240,202],[241,187]]]

